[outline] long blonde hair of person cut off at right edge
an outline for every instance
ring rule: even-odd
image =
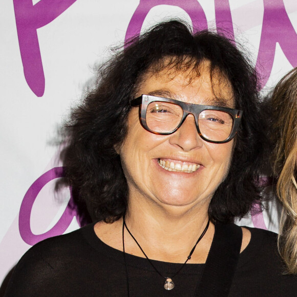
[[[273,168],[279,175],[277,194],[284,206],[278,247],[286,272],[297,274],[297,68],[277,84],[271,103],[275,129]]]

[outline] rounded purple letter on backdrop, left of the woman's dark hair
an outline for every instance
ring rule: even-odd
[[[44,240],[46,238],[63,234],[63,232],[65,232],[68,226],[70,225],[74,216],[76,216],[77,222],[79,224],[78,216],[76,214],[74,203],[71,197],[61,218],[49,231],[40,235],[35,235],[31,231],[31,227],[30,227],[31,210],[32,210],[34,201],[37,198],[38,193],[48,182],[63,176],[64,176],[63,167],[52,168],[45,174],[41,175],[28,189],[22,201],[22,204],[20,205],[19,219],[18,219],[19,233],[22,239],[26,243],[30,245],[34,245],[35,243],[41,240]]]

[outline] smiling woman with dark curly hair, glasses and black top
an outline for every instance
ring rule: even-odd
[[[258,90],[215,33],[173,20],[126,44],[68,124],[67,177],[96,223],[35,245],[7,296],[292,295],[275,235],[228,224],[261,203]]]

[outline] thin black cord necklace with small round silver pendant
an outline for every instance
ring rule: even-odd
[[[138,247],[140,248],[140,250],[142,251],[142,253],[144,254],[145,258],[150,262],[150,264],[152,265],[152,267],[156,270],[156,272],[163,278],[165,279],[164,282],[164,289],[165,290],[172,290],[175,287],[175,284],[173,282],[173,278],[182,270],[182,268],[185,266],[185,264],[188,262],[188,260],[191,259],[192,254],[197,246],[197,244],[199,243],[199,241],[203,238],[203,236],[205,235],[207,229],[209,226],[209,219],[208,222],[206,224],[206,227],[204,228],[202,234],[200,235],[200,237],[198,238],[197,242],[195,243],[194,247],[192,248],[192,250],[190,251],[186,261],[183,263],[183,265],[181,266],[181,268],[174,274],[172,275],[172,277],[164,277],[164,275],[162,275],[159,270],[155,267],[155,265],[152,263],[151,259],[149,257],[146,256],[145,252],[143,251],[143,249],[141,248],[140,244],[137,242],[137,240],[135,239],[135,237],[132,235],[132,233],[130,232],[130,230],[128,229],[126,222],[125,222],[125,216],[123,216],[123,227],[122,227],[122,241],[123,241],[123,255],[124,255],[124,263],[125,263],[125,271],[126,271],[126,279],[127,279],[127,288],[128,288],[128,295],[129,295],[129,277],[128,277],[128,270],[127,270],[127,265],[126,265],[126,257],[125,257],[125,244],[124,244],[124,227],[127,229],[127,231],[129,232],[129,234],[131,235],[131,237],[134,239],[134,241],[136,242],[136,244],[138,245]]]

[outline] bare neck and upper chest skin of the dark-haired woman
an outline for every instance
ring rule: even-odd
[[[125,222],[147,257],[152,260],[184,263],[189,252],[202,234],[207,222],[207,205],[167,206],[130,199]],[[112,224],[97,223],[96,235],[106,244],[122,250],[122,227],[120,219]],[[205,263],[215,227],[212,223],[195,248],[188,263]],[[125,252],[143,257],[140,248],[124,228]]]

